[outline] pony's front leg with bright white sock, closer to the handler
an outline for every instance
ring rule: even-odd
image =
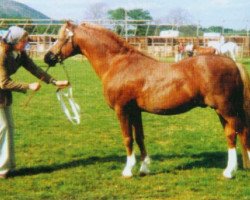
[[[116,113],[120,121],[123,142],[127,151],[127,162],[122,175],[129,178],[133,176],[132,169],[136,163],[135,154],[133,152],[132,124],[129,120],[129,114],[126,113],[123,109],[116,108]]]

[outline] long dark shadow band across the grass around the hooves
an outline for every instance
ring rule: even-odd
[[[155,154],[151,156],[152,161],[161,162],[165,160],[173,160],[173,159],[188,159],[189,161],[176,166],[171,169],[172,170],[188,170],[192,168],[225,168],[227,163],[227,154],[226,152],[204,152],[200,154]],[[78,159],[75,161],[60,163],[60,164],[52,164],[47,166],[36,166],[36,167],[27,167],[17,169],[11,175],[12,177],[16,176],[31,176],[42,173],[52,173],[54,171],[59,171],[62,169],[76,168],[76,167],[84,167],[88,165],[94,165],[96,163],[106,163],[106,162],[119,162],[125,163],[125,156],[111,155],[106,157],[97,157],[92,156],[86,159]],[[191,160],[191,161],[190,161]],[[239,163],[242,160],[239,157]],[[160,169],[159,169],[160,170]],[[164,171],[166,172],[166,171]],[[167,171],[169,172],[169,171]],[[160,173],[163,173],[160,172]]]

